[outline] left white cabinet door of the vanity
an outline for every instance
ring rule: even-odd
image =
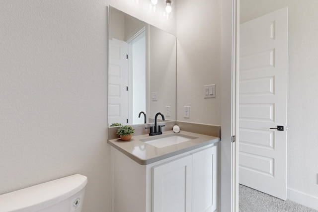
[[[191,212],[192,155],[153,167],[153,212]]]

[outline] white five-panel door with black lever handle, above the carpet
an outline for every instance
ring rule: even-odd
[[[239,63],[239,183],[286,200],[287,7],[240,24]]]

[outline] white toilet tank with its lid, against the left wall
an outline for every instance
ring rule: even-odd
[[[0,195],[0,212],[80,212],[87,177],[75,174]]]

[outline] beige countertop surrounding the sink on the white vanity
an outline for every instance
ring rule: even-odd
[[[124,153],[125,155],[127,155],[128,157],[130,157],[131,159],[135,160],[136,162],[142,165],[147,165],[168,157],[172,157],[220,141],[220,139],[217,137],[181,131],[179,134],[196,138],[190,141],[185,141],[165,147],[156,147],[144,142],[148,139],[159,139],[161,137],[167,136],[168,134],[174,134],[174,132],[165,131],[162,133],[162,135],[158,136],[149,136],[148,134],[141,136],[133,136],[130,141],[112,139],[109,140],[108,143],[114,148]]]

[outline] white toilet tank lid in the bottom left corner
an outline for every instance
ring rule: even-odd
[[[82,190],[87,177],[75,174],[0,195],[0,212],[38,211],[57,204]]]

